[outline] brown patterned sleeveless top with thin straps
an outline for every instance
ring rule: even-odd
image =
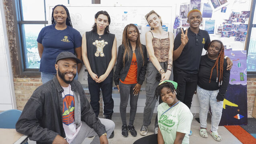
[[[165,38],[165,39],[158,39],[158,38],[155,38],[153,35],[152,45],[154,49],[154,54],[158,59],[158,61],[159,62],[168,61],[168,51],[170,48],[169,32],[168,32],[168,38]]]

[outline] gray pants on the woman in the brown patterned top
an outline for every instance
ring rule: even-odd
[[[167,62],[160,63],[161,67],[166,71]],[[160,81],[156,81],[156,74],[158,70],[153,65],[153,63],[148,63],[147,65],[147,85],[146,85],[146,102],[143,112],[143,126],[149,126],[151,118],[153,116],[154,108],[156,106],[157,99],[154,98],[156,87],[159,85]],[[171,73],[169,80],[173,80],[173,73]],[[158,120],[156,116],[155,126],[158,126]]]

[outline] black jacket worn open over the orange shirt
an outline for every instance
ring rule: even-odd
[[[128,59],[128,55],[125,55],[125,67],[123,67],[123,53],[125,52],[125,47],[123,45],[120,45],[118,48],[118,55],[117,55],[117,66],[115,70],[114,75],[114,81],[115,85],[119,85],[119,79],[121,81],[125,81],[125,77],[127,76],[127,73],[130,69],[131,60],[133,58],[133,50],[131,47],[131,44],[129,43],[130,47],[130,57]],[[144,65],[143,65],[143,59],[139,52],[139,47],[136,46],[135,49],[135,55],[137,59],[137,83],[142,85],[143,81],[145,80],[145,74],[147,69],[147,49],[145,45],[141,45],[143,50],[143,56],[144,56]]]

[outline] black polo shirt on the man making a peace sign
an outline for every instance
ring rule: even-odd
[[[184,30],[184,33],[186,30]],[[174,51],[180,47],[181,32],[174,39]],[[206,30],[200,30],[198,34],[188,28],[188,43],[182,50],[180,57],[173,62],[174,68],[181,69],[189,74],[197,74],[203,48],[207,50],[211,42],[210,36]]]

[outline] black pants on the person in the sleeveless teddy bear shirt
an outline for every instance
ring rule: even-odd
[[[101,83],[96,83],[91,77],[88,77],[88,87],[90,92],[90,104],[92,109],[98,117],[100,113],[100,89],[102,90],[102,97],[104,102],[104,115],[106,118],[113,114],[114,108],[114,101],[112,99],[112,84],[113,84],[113,77],[107,77]]]

